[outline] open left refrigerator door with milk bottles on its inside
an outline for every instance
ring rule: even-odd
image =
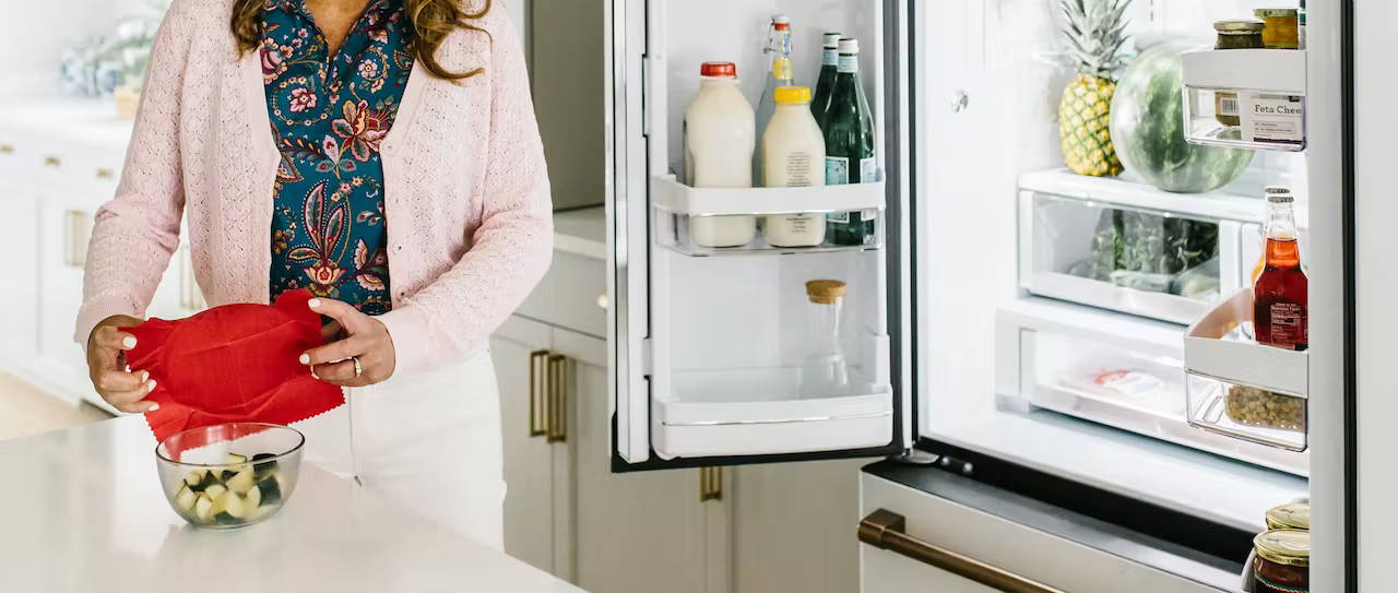
[[[911,445],[911,336],[900,331],[910,285],[905,13],[906,3],[882,0],[612,1],[607,221],[615,471],[875,456]],[[699,90],[699,64],[734,62],[740,90],[755,103],[774,14],[793,22],[797,84],[814,85],[823,31],[860,39],[860,78],[875,116],[872,182],[754,189],[684,182],[682,122]],[[826,236],[777,246],[772,225],[783,220],[814,221]],[[835,225],[849,220],[867,225],[836,236]],[[747,242],[713,246],[714,227],[730,222],[748,225]],[[833,331],[818,329],[829,308],[814,301],[815,280],[843,283]],[[821,343],[837,344],[842,357],[818,351]],[[825,379],[815,380],[816,368]],[[822,387],[830,382],[836,387]]]

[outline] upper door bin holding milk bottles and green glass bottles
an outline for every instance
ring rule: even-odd
[[[650,183],[656,242],[691,256],[818,253],[884,246],[884,182],[823,187]]]

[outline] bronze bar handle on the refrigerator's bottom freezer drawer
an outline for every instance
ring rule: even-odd
[[[860,522],[860,541],[930,564],[967,580],[1007,593],[1064,593],[1037,580],[991,566],[907,534],[907,520],[892,510],[878,509]]]

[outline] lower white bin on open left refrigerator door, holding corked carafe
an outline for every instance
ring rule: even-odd
[[[688,371],[656,400],[653,443],[663,459],[776,455],[888,445],[893,390],[856,380],[856,393],[801,397],[800,369]]]

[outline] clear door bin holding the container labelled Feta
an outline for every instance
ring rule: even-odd
[[[1181,74],[1190,143],[1292,152],[1306,148],[1304,50],[1190,52],[1181,57]]]

